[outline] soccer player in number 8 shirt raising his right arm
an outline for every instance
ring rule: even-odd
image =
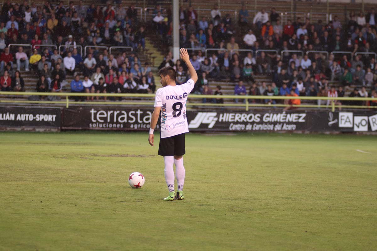
[[[185,181],[185,168],[183,166],[183,155],[185,154],[185,133],[189,132],[186,118],[187,95],[194,88],[198,75],[190,62],[189,53],[186,49],[180,50],[180,56],[189,68],[191,79],[182,85],[176,85],[177,76],[173,67],[161,68],[158,74],[161,78],[162,88],[156,91],[155,110],[152,114],[149,129],[149,144],[154,146],[153,131],[156,128],[158,117],[161,113],[160,144],[158,155],[164,157],[165,180],[169,189],[169,196],[165,201],[176,201],[184,199],[183,183]],[[174,170],[177,176],[178,191],[174,190]]]

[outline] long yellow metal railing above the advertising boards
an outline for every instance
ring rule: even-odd
[[[104,102],[104,101],[95,101],[95,102],[87,102],[87,101],[72,101],[69,100],[69,97],[155,97],[155,94],[136,94],[136,93],[37,93],[37,92],[15,92],[15,91],[0,91],[0,97],[4,96],[59,96],[65,97],[65,100],[12,100],[12,99],[3,99],[0,100],[0,103],[54,103],[54,104],[65,104],[66,107],[69,107],[70,103],[75,104],[96,104],[96,105],[153,105],[153,102],[133,102],[133,101],[111,101],[111,102]],[[376,106],[366,106],[366,105],[335,105],[334,100],[348,100],[348,101],[377,101],[375,97],[291,97],[291,96],[238,96],[238,95],[198,95],[198,94],[190,94],[190,98],[192,99],[245,99],[245,103],[233,103],[233,104],[218,104],[218,103],[191,103],[188,102],[187,106],[241,106],[245,107],[246,111],[249,110],[250,107],[304,107],[304,108],[328,108],[328,105],[285,105],[285,104],[263,104],[263,103],[250,103],[248,99],[304,99],[304,100],[331,100],[331,110],[335,111],[336,108],[364,108],[364,109],[377,109]]]

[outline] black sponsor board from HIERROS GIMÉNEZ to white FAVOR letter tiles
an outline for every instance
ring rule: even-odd
[[[187,116],[190,131],[377,131],[375,112],[199,111],[189,112]]]

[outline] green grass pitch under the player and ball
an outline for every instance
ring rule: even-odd
[[[147,133],[0,142],[0,250],[377,249],[375,136],[190,133],[176,202]]]

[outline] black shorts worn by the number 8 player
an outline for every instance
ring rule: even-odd
[[[186,153],[185,134],[178,134],[172,137],[160,138],[158,146],[158,155],[161,156],[181,156]]]

